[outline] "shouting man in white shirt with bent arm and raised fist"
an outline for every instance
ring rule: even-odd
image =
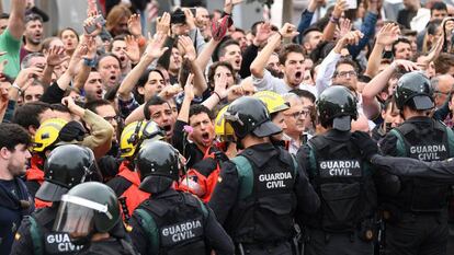
[[[265,66],[274,49],[281,45],[282,38],[293,38],[297,35],[294,25],[285,23],[279,33],[274,33],[266,46],[260,51],[250,66],[253,84],[258,90],[274,91],[279,94],[287,93],[300,85],[306,69],[304,63],[304,51],[300,45],[286,45],[279,54],[281,66],[284,69],[284,78],[274,78]]]

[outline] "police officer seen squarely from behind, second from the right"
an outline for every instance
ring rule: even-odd
[[[327,131],[297,153],[321,199],[320,210],[304,221],[305,254],[373,254],[377,200],[373,171],[351,139],[356,98],[345,86],[332,85],[316,105]]]

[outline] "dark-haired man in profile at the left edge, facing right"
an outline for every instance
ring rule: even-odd
[[[9,255],[13,236],[24,216],[34,209],[24,182],[31,158],[27,150],[30,136],[16,124],[0,124],[0,254]]]

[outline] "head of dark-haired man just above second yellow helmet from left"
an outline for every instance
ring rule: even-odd
[[[173,135],[173,117],[172,107],[169,102],[154,95],[144,106],[145,119],[154,120],[166,132],[166,140],[171,141]]]

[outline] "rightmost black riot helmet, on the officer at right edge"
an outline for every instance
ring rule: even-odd
[[[433,108],[433,90],[429,79],[420,71],[405,73],[397,82],[395,91],[396,106],[404,109],[405,105],[413,109]]]

